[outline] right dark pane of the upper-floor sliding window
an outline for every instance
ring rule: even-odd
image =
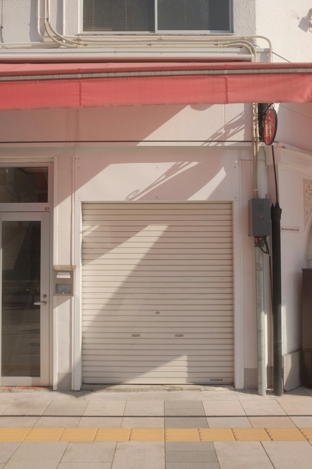
[[[158,30],[229,31],[229,0],[158,0]]]

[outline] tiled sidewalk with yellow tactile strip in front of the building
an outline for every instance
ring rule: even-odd
[[[13,391],[0,392],[0,469],[312,467],[309,388]]]

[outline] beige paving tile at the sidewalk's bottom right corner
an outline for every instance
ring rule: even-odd
[[[275,469],[311,469],[312,446],[307,441],[264,441],[262,445]]]

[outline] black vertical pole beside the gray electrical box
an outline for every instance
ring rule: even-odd
[[[276,168],[273,153],[273,165],[276,181]],[[277,198],[271,206],[272,220],[272,314],[273,314],[273,391],[276,396],[283,395],[282,375],[282,280],[281,280],[281,215],[282,209]]]

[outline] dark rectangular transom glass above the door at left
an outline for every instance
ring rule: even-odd
[[[48,168],[1,167],[0,203],[48,202]]]

